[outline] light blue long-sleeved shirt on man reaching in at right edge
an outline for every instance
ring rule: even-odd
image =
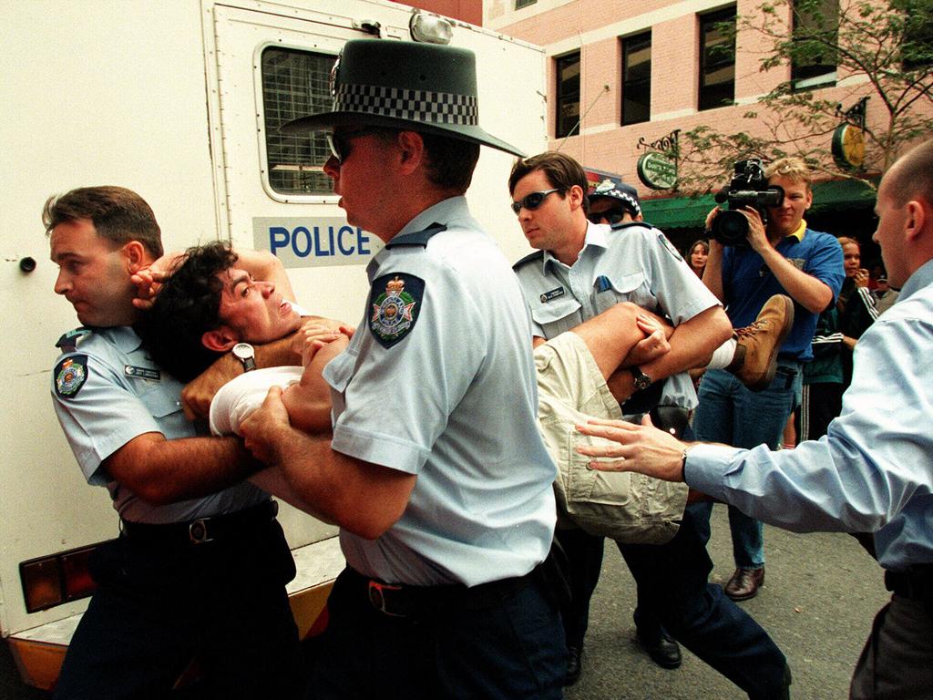
[[[696,445],[686,479],[798,532],[874,532],[878,560],[933,563],[933,261],[856,345],[842,413],[819,441],[771,452]]]

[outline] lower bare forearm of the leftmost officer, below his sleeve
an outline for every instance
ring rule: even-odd
[[[155,506],[216,493],[261,468],[236,438],[166,440],[156,432],[136,436],[102,466]]]

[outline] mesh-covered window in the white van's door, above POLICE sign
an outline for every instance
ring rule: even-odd
[[[269,184],[283,194],[331,194],[322,166],[330,155],[324,133],[285,135],[285,122],[332,105],[330,69],[334,57],[270,47],[262,52],[262,105],[265,113]]]

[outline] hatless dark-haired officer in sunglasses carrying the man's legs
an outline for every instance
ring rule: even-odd
[[[631,301],[671,319],[675,329],[670,351],[648,361],[629,357],[623,364],[630,369],[615,372],[607,384],[617,399],[637,400],[666,378],[661,404],[689,409],[696,399],[686,370],[703,362],[729,337],[728,321],[661,231],[644,224],[620,222],[609,229],[588,222],[587,188],[578,162],[556,152],[517,161],[509,176],[512,208],[529,244],[537,248],[515,265],[533,318],[533,343],[545,343],[620,301]],[[610,189],[618,188],[613,183],[597,188],[601,194]],[[591,212],[591,216],[602,219],[605,213]],[[776,316],[764,321],[773,328],[771,335],[783,327]],[[759,361],[754,355],[753,347],[746,360]],[[632,398],[623,403],[622,413],[634,413],[626,409]],[[639,413],[647,410],[648,405]],[[564,527],[573,525],[565,513],[561,520]],[[569,613],[564,627],[571,651],[567,680],[573,682],[579,675],[603,539],[564,527],[557,537],[570,562],[574,594],[573,609],[564,610]],[[750,696],[787,693],[784,655],[757,623],[722,595],[721,588],[708,583],[712,562],[689,509],[666,544],[620,543],[619,549],[638,585],[637,637],[655,661],[674,667],[680,660],[670,640],[648,637],[659,634],[660,621],[666,632]],[[643,616],[651,626],[643,626]]]

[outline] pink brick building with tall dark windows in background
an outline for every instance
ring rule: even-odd
[[[760,0],[485,0],[483,23],[544,48],[550,147],[588,167],[623,175],[639,189],[646,218],[683,249],[703,232],[712,196],[696,200],[671,189],[648,189],[636,175],[646,145],[703,124],[755,133],[758,124],[742,115],[789,79],[845,107],[870,92],[867,78],[844,75],[819,56],[760,71],[769,44],[752,31],[739,31],[731,56],[718,54],[717,46],[731,45],[720,23],[734,24],[737,13],[752,15],[759,5]],[[824,5],[835,12],[839,0]],[[790,11],[778,9],[789,29]],[[881,118],[882,109],[879,100],[871,100],[869,119]],[[829,135],[822,138],[829,147]],[[717,189],[726,184],[718,177]],[[816,229],[856,235],[870,262],[877,257],[870,243],[873,204],[873,191],[857,183],[818,183],[806,218]]]

